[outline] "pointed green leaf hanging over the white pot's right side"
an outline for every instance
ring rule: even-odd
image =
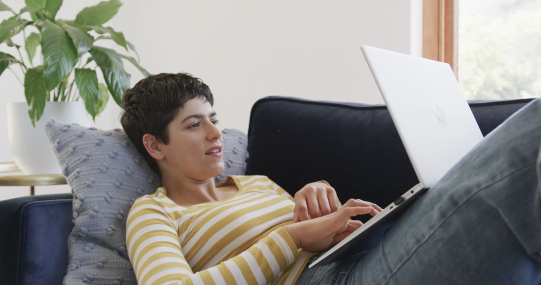
[[[98,110],[101,106],[100,87],[98,87],[98,77],[96,71],[91,69],[75,69],[75,83],[81,98],[84,101],[84,107],[87,108],[88,113],[92,116],[92,119],[96,119]]]

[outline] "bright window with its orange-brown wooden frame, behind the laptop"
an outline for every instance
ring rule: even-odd
[[[423,4],[423,56],[450,63],[466,99],[541,97],[541,0]]]

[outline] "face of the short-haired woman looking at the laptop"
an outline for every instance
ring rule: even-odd
[[[162,175],[204,181],[222,173],[223,139],[216,124],[210,103],[199,97],[188,100],[167,126],[169,143],[160,143]]]

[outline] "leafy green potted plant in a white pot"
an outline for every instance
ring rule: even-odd
[[[24,155],[21,151],[28,153],[29,148],[35,148],[36,139],[32,138],[34,134],[14,134],[21,131],[24,123],[27,123],[29,128],[36,128],[35,133],[42,133],[44,145],[48,147],[55,163],[56,169],[53,173],[59,173],[60,167],[50,150],[42,126],[48,115],[44,120],[40,120],[44,112],[47,113],[48,108],[52,108],[55,111],[51,115],[58,119],[62,114],[59,114],[58,107],[53,105],[56,102],[67,105],[75,101],[72,105],[79,105],[86,111],[75,110],[77,108],[75,106],[64,108],[79,116],[81,113],[88,113],[95,119],[107,104],[109,94],[118,105],[122,105],[122,94],[130,84],[130,74],[124,70],[123,60],[134,64],[144,76],[148,76],[149,73],[140,66],[134,46],[124,38],[123,33],[115,31],[110,26],[104,26],[120,9],[122,5],[120,1],[104,1],[84,8],[74,20],[56,18],[62,0],[25,0],[25,4],[21,11],[16,12],[0,1],[0,11],[12,14],[0,23],[0,43],[14,50],[11,54],[0,52],[0,76],[4,71],[13,71],[13,68],[17,67],[21,69],[24,79],[17,78],[24,86],[26,99],[26,104],[23,103],[24,116],[30,117],[30,120],[26,119],[23,122],[20,117],[12,116],[10,109],[14,109],[13,105],[8,105],[8,130],[12,155],[24,172],[50,173],[43,169],[30,169],[38,164],[34,155],[30,155],[29,164],[32,167],[19,162],[19,157]],[[23,34],[24,43],[17,43],[12,39],[19,33]],[[120,45],[128,54],[133,52],[136,58],[99,45],[108,40]],[[42,60],[34,65],[38,46],[41,47]],[[100,83],[98,73],[101,73],[104,83]],[[15,72],[14,74],[17,76]],[[84,105],[78,99],[82,99]],[[77,121],[77,119],[63,120]],[[22,142],[15,141],[16,138],[12,138],[14,136],[22,137],[31,144],[21,146]],[[21,150],[14,150],[14,146]]]

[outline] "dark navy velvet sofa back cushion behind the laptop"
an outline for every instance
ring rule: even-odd
[[[530,100],[470,107],[486,135]],[[342,202],[361,198],[383,207],[419,183],[385,105],[266,97],[252,107],[248,140],[246,174],[267,175],[292,195],[326,180]]]

